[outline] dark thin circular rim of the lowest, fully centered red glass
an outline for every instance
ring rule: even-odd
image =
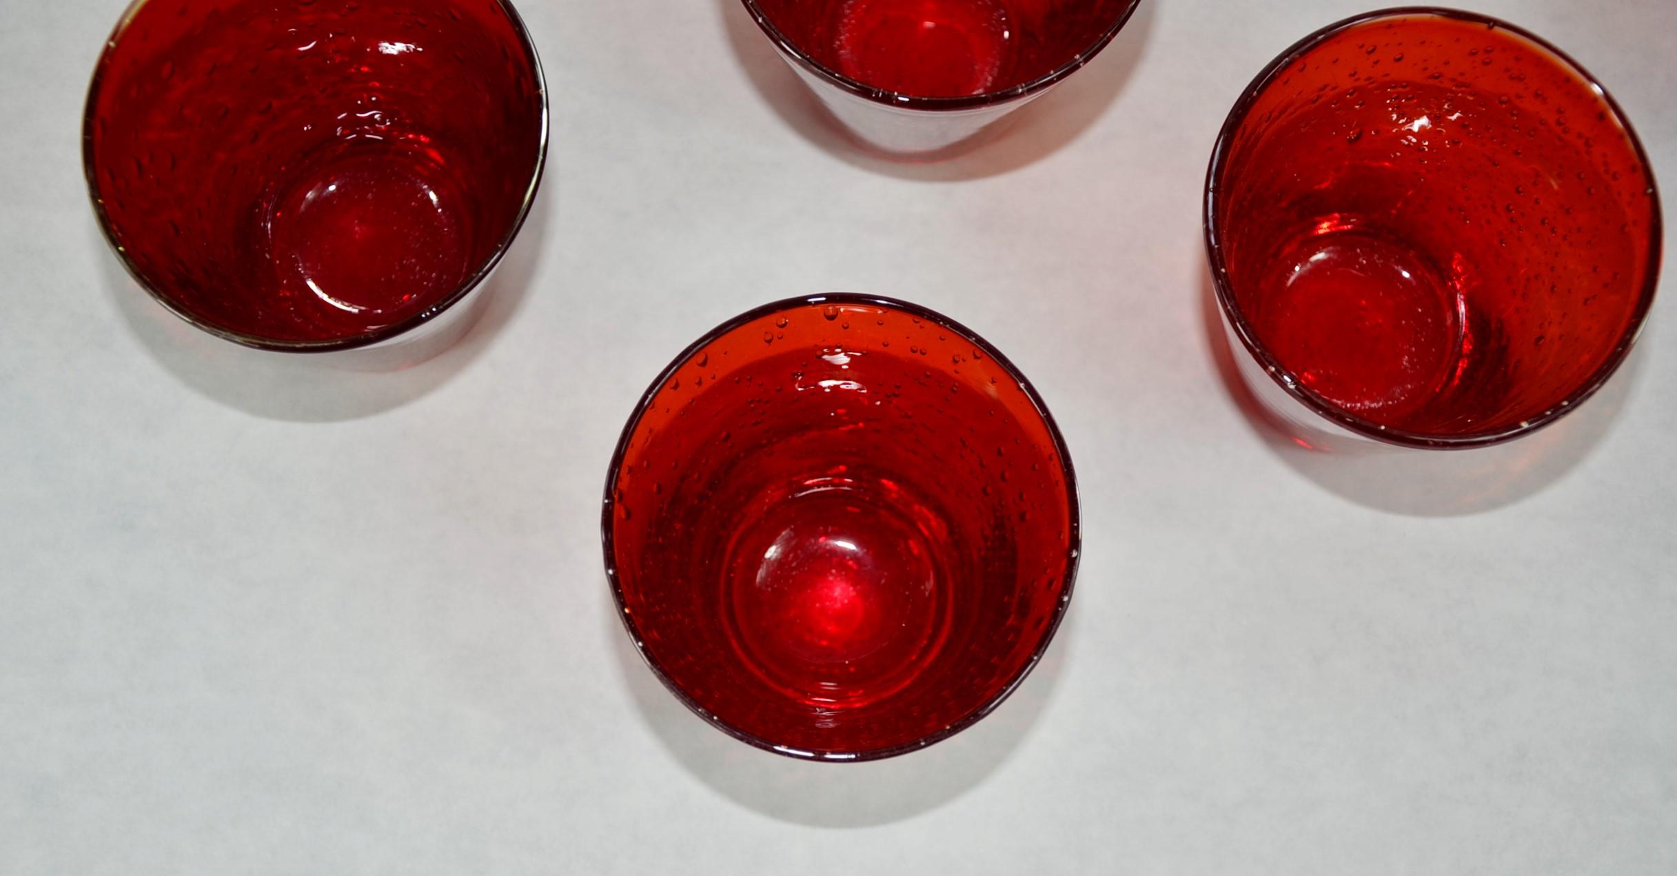
[[[1006,685],[1001,686],[1001,690],[994,696],[981,703],[971,713],[924,737],[899,745],[887,745],[882,748],[860,748],[860,750],[792,748],[788,745],[776,745],[773,740],[741,730],[728,723],[721,717],[709,713],[704,707],[701,707],[696,700],[693,700],[693,696],[689,696],[688,691],[681,688],[681,685],[678,685],[667,673],[664,673],[664,668],[652,658],[652,654],[647,653],[646,646],[642,644],[646,639],[641,636],[641,629],[636,626],[636,619],[627,613],[627,602],[624,601],[622,584],[617,579],[617,545],[614,530],[615,515],[612,514],[615,507],[614,495],[617,492],[617,480],[619,480],[619,472],[622,470],[624,456],[629,451],[629,441],[631,438],[634,438],[636,428],[641,425],[642,415],[652,406],[652,399],[676,376],[676,373],[684,364],[688,364],[688,361],[693,359],[693,356],[696,356],[701,349],[704,349],[716,339],[758,319],[818,304],[864,304],[864,305],[885,307],[906,314],[912,319],[921,319],[924,322],[941,326],[949,332],[958,334],[963,339],[969,341],[973,346],[981,349],[984,356],[989,356],[998,366],[1001,366],[1001,369],[1010,378],[1013,378],[1015,383],[1018,383],[1020,389],[1025,393],[1026,399],[1031,403],[1031,408],[1036,411],[1036,416],[1041,420],[1043,426],[1048,430],[1050,438],[1053,440],[1053,450],[1055,453],[1060,455],[1060,472],[1062,477],[1065,478],[1065,502],[1067,502],[1067,520],[1068,520],[1067,529],[1070,532],[1070,537],[1067,540],[1067,549],[1065,549],[1065,572],[1060,576],[1062,592],[1058,604],[1053,609],[1053,618],[1043,628],[1035,648],[1031,648],[1030,658],[1023,661],[1023,665],[1013,673],[1013,676],[1006,681]],[[728,733],[729,737],[740,742],[745,742],[746,745],[761,748],[765,752],[778,753],[783,757],[790,757],[793,760],[810,760],[823,764],[859,764],[865,760],[884,760],[889,757],[917,752],[921,748],[942,742],[959,733],[961,730],[966,730],[968,727],[973,727],[974,723],[988,717],[991,712],[994,712],[996,707],[1006,701],[1006,698],[1011,696],[1013,691],[1025,683],[1025,678],[1031,675],[1031,670],[1035,670],[1036,665],[1041,663],[1041,656],[1048,651],[1048,644],[1053,641],[1055,633],[1060,629],[1060,621],[1065,619],[1067,609],[1070,609],[1072,606],[1072,591],[1077,582],[1077,567],[1078,567],[1078,557],[1082,555],[1082,542],[1083,542],[1082,512],[1078,505],[1077,472],[1072,467],[1072,455],[1067,451],[1065,436],[1060,435],[1060,426],[1055,423],[1053,415],[1048,413],[1048,406],[1043,403],[1041,396],[1036,394],[1036,388],[1031,386],[1031,383],[1025,378],[1025,374],[1001,351],[991,346],[989,341],[984,341],[983,336],[929,307],[922,307],[919,304],[911,304],[885,295],[867,295],[857,292],[827,292],[818,295],[797,295],[763,304],[760,307],[753,307],[733,319],[721,322],[714,329],[699,336],[698,341],[688,344],[686,349],[676,354],[676,357],[671,359],[671,362],[659,371],[657,378],[652,379],[646,393],[642,393],[639,401],[636,401],[634,415],[629,418],[629,423],[624,425],[622,436],[617,440],[617,448],[612,451],[610,468],[605,473],[605,500],[600,510],[600,544],[605,554],[605,579],[610,582],[612,601],[617,606],[617,619],[622,621],[624,631],[629,633],[629,639],[634,643],[636,651],[641,654],[642,663],[646,663],[646,666],[652,670],[652,675],[657,676],[657,680],[664,685],[664,688],[669,693],[672,693],[676,700],[686,705],[688,710],[703,718],[704,723],[721,730],[723,733]]]

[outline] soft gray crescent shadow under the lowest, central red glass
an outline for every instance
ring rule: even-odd
[[[607,586],[609,587],[609,586]],[[699,780],[740,806],[815,827],[890,824],[978,787],[1020,747],[1053,696],[1075,626],[1070,611],[1030,678],[989,717],[929,748],[867,764],[812,764],[753,748],[681,705],[641,660],[605,599],[624,683],[657,738]]]

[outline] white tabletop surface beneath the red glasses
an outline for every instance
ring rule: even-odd
[[[1677,190],[1670,0],[1476,2],[1593,69]],[[409,371],[300,374],[106,252],[79,124],[121,0],[3,2],[0,873],[1677,873],[1674,302],[1602,396],[1476,453],[1308,455],[1216,364],[1216,131],[1363,3],[1147,0],[932,166],[845,146],[738,0],[522,7],[553,146],[490,312]],[[1013,700],[849,767],[686,713],[599,544],[657,369],[823,290],[1006,351],[1087,540]]]

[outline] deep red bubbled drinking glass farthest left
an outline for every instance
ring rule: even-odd
[[[431,331],[518,233],[545,153],[540,62],[503,0],[139,0],[82,134],[139,284],[278,351]]]

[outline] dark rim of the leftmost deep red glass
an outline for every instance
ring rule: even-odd
[[[99,220],[99,232],[102,233],[106,243],[111,247],[111,252],[116,253],[117,260],[122,263],[122,269],[127,270],[127,275],[136,284],[139,284],[139,287],[144,289],[153,300],[156,300],[171,314],[191,324],[193,327],[245,347],[273,351],[273,352],[337,352],[357,347],[369,347],[372,344],[379,344],[382,341],[389,341],[392,337],[408,334],[418,329],[419,326],[431,322],[449,307],[466,300],[466,297],[471,295],[480,285],[483,285],[483,282],[488,280],[490,274],[493,274],[495,269],[501,263],[501,258],[506,255],[506,250],[511,248],[513,240],[518,238],[518,232],[523,230],[523,223],[530,216],[530,208],[535,205],[537,190],[540,190],[542,186],[542,175],[547,169],[548,126],[552,112],[548,107],[547,74],[542,69],[542,57],[537,54],[535,42],[530,39],[530,30],[528,27],[525,27],[525,22],[518,15],[518,10],[513,8],[511,0],[495,0],[495,3],[506,12],[506,20],[511,22],[513,34],[523,45],[523,50],[530,59],[530,70],[535,74],[537,97],[540,99],[542,104],[542,117],[538,121],[538,134],[537,134],[535,166],[530,168],[530,185],[528,188],[525,188],[523,200],[518,205],[518,215],[513,216],[513,223],[506,228],[506,233],[501,235],[501,240],[495,243],[495,250],[490,253],[488,258],[483,260],[481,265],[478,265],[478,269],[471,274],[471,277],[461,280],[448,295],[438,299],[431,307],[426,307],[418,314],[413,314],[389,326],[382,326],[379,329],[327,341],[285,341],[277,337],[263,337],[260,334],[241,332],[236,329],[228,329],[225,326],[216,326],[206,319],[201,319],[186,307],[181,307],[179,304],[169,300],[168,295],[164,295],[156,285],[153,285],[151,280],[148,280],[139,272],[138,267],[134,267],[134,262],[129,258],[127,252],[117,243],[116,235],[111,232],[111,216],[106,213],[104,201],[99,198],[97,166],[94,163],[94,153],[92,153],[94,123],[96,123],[94,107],[97,104],[101,89],[104,86],[106,67],[111,62],[111,52],[116,50],[122,34],[134,22],[134,17],[139,15],[141,8],[146,7],[146,3],[149,2],[151,0],[132,0],[132,3],[129,3],[127,8],[122,10],[122,17],[117,20],[116,29],[111,30],[111,35],[106,37],[104,50],[99,52],[99,60],[94,64],[92,81],[87,86],[87,104],[82,109],[82,176],[87,181],[87,200],[92,203],[94,216]]]

